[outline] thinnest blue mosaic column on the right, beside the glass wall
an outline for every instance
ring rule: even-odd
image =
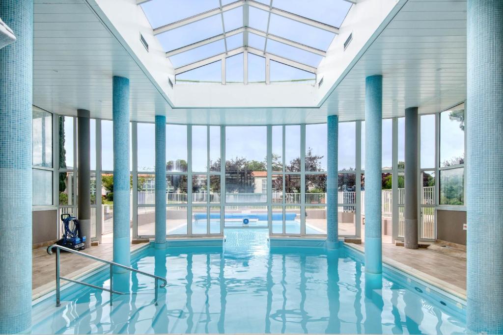
[[[339,247],[339,222],[337,217],[337,185],[338,185],[338,137],[339,116],[327,117],[327,176],[326,176],[326,247]]]

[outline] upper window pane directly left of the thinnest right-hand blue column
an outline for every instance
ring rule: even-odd
[[[326,124],[306,125],[306,171],[326,171]]]

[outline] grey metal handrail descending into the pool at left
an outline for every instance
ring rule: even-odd
[[[125,266],[125,265],[122,265],[122,264],[119,264],[119,263],[115,263],[115,262],[112,262],[112,261],[107,261],[107,260],[104,260],[104,259],[96,257],[96,256],[91,256],[91,255],[82,253],[80,251],[69,249],[69,248],[66,248],[66,247],[63,247],[63,246],[60,246],[60,245],[57,245],[57,244],[53,244],[52,246],[47,247],[47,253],[49,255],[52,255],[52,248],[56,248],[56,307],[59,307],[61,305],[61,303],[60,303],[60,292],[61,292],[61,289],[60,289],[60,280],[61,279],[69,281],[69,282],[72,282],[72,283],[81,284],[81,285],[89,286],[89,287],[92,287],[92,288],[96,288],[96,289],[99,289],[99,290],[102,290],[102,291],[110,292],[110,305],[112,305],[113,304],[112,303],[112,300],[113,300],[112,298],[113,298],[113,294],[114,293],[115,294],[125,294],[123,292],[114,291],[114,286],[113,286],[113,276],[114,276],[113,267],[114,266],[116,266],[118,268],[123,268],[123,269],[129,270],[131,272],[140,273],[140,274],[145,275],[147,277],[154,278],[154,282],[155,282],[154,302],[155,302],[156,306],[157,306],[157,296],[158,296],[157,289],[158,289],[158,286],[159,286],[158,285],[158,281],[159,280],[161,281],[160,287],[165,287],[167,285],[167,281],[166,281],[165,278],[162,278],[162,277],[159,277],[159,276],[156,276],[156,275],[152,275],[150,273],[143,272],[143,271],[140,271],[140,270],[136,270],[136,269],[133,269],[133,268],[131,268],[129,266]],[[89,259],[92,259],[92,260],[95,260],[95,261],[98,261],[98,262],[109,264],[110,265],[110,289],[105,288],[105,287],[100,287],[100,286],[92,285],[92,284],[88,284],[88,283],[85,283],[85,282],[82,282],[82,281],[78,281],[78,280],[74,280],[74,279],[62,277],[59,274],[59,250],[64,250],[64,251],[67,251],[67,252],[70,252],[70,253],[73,253],[73,254],[76,254],[76,255],[80,255],[80,256],[83,256],[83,257],[86,257],[86,258],[89,258]]]

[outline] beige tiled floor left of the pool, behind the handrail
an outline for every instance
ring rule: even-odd
[[[131,251],[144,247],[146,244],[132,244]],[[55,271],[56,262],[55,254],[47,254],[47,248],[34,249],[32,252],[33,266],[32,266],[32,297],[37,298],[51,290],[55,289]],[[111,236],[103,239],[103,243],[97,247],[91,247],[83,252],[103,258],[105,260],[112,260],[113,245]],[[102,263],[91,260],[89,258],[81,257],[70,253],[61,253],[60,256],[60,274],[64,277],[77,277],[84,273],[89,273],[101,266]]]

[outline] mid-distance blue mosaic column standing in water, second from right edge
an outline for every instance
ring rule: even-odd
[[[365,272],[382,273],[382,76],[365,79]]]

